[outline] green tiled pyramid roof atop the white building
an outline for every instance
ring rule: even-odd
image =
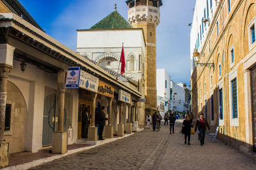
[[[90,29],[132,29],[132,25],[115,10]]]

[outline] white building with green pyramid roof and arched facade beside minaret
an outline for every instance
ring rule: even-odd
[[[126,66],[121,77],[122,44]],[[134,90],[139,90],[142,98],[145,97],[145,45],[143,29],[134,29],[116,10],[90,29],[77,30],[77,52],[109,74],[118,76]],[[138,99],[132,99],[131,106],[132,111],[138,108],[138,113],[131,115],[132,122],[137,121],[139,125],[144,125],[145,103],[138,103]],[[127,108],[128,106],[125,106],[124,111],[128,111]],[[124,122],[128,119],[123,118]],[[118,121],[115,124],[115,132],[117,124]]]

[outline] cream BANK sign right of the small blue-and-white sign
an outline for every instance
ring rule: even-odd
[[[79,87],[82,89],[90,90],[92,92],[98,91],[99,78],[92,76],[85,71],[80,71]]]

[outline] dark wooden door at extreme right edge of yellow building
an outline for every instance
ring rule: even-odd
[[[253,152],[256,152],[256,67],[251,70]]]

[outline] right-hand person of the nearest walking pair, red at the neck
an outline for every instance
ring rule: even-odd
[[[196,132],[197,128],[200,132],[200,144],[201,144],[201,146],[204,145],[206,127],[208,127],[208,129],[210,130],[210,126],[209,126],[207,120],[205,120],[204,114],[201,113],[200,118],[198,118],[198,120],[196,120],[196,127],[195,127],[195,132]]]

